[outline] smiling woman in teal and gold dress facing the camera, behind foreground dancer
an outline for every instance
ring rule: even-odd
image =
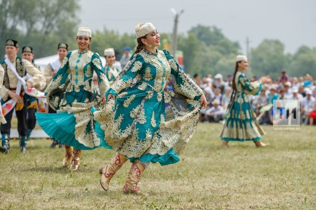
[[[59,71],[46,88],[49,105],[57,113],[36,113],[43,130],[65,144],[66,154],[63,166],[72,159],[71,169],[77,170],[81,150],[91,150],[100,146],[100,139],[94,133],[91,107],[99,108],[105,101],[105,91],[109,87],[99,56],[89,50],[91,30],[79,28],[77,31],[79,50],[69,52]],[[98,75],[101,97],[97,95],[92,79],[93,71]]]

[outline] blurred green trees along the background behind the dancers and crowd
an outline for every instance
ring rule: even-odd
[[[32,46],[35,58],[56,54],[60,42],[67,43],[70,50],[76,49],[79,10],[76,0],[0,0],[0,48],[4,49],[5,40],[12,38],[21,47]],[[168,33],[160,35],[161,40],[172,37]],[[135,48],[135,34],[120,34],[106,27],[93,33],[91,48],[100,55],[105,48],[122,51],[126,46]],[[216,26],[197,25],[179,34],[178,49],[183,51],[185,71],[200,76],[222,73],[226,77],[234,71],[235,56],[241,54],[240,44],[229,40]],[[3,59],[4,50],[0,50],[0,56]],[[276,78],[281,71],[297,77],[313,74],[316,48],[301,46],[295,54],[285,54],[283,43],[265,39],[251,48],[249,63],[249,76],[269,74]]]

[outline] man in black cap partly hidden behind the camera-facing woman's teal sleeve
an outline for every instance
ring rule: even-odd
[[[47,64],[45,69],[44,69],[44,77],[46,78],[46,87],[52,81],[52,78],[55,76],[57,71],[60,69],[61,63],[63,62],[64,58],[68,54],[68,44],[59,43],[58,48],[57,48],[57,54],[59,56],[58,59],[55,60],[54,62]],[[52,107],[48,106],[48,113],[56,113],[56,111]],[[59,144],[60,148],[63,147],[63,145],[60,144],[59,141],[57,141],[54,138],[52,138],[52,139],[53,139],[53,142],[49,146],[50,148],[54,148],[58,144]]]

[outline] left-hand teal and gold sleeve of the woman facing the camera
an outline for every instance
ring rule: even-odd
[[[71,52],[69,52],[64,58],[60,69],[57,71],[52,81],[48,84],[45,94],[47,103],[56,111],[59,109],[59,103],[62,95],[65,92],[67,84],[69,82],[69,58]]]

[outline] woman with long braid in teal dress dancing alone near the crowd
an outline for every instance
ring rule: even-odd
[[[257,147],[266,146],[260,139],[265,134],[256,120],[247,94],[258,94],[261,84],[269,82],[269,78],[261,77],[258,81],[249,82],[244,70],[248,68],[245,55],[237,55],[233,78],[233,93],[228,106],[227,119],[221,133],[222,146],[228,146],[228,141],[253,141]]]

